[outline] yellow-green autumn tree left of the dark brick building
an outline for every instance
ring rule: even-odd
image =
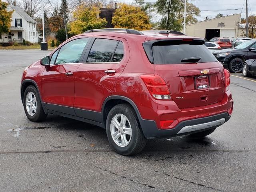
[[[98,7],[79,6],[73,12],[74,21],[70,23],[71,32],[80,34],[86,30],[104,28],[107,24],[106,18],[100,18],[99,14],[100,9]]]

